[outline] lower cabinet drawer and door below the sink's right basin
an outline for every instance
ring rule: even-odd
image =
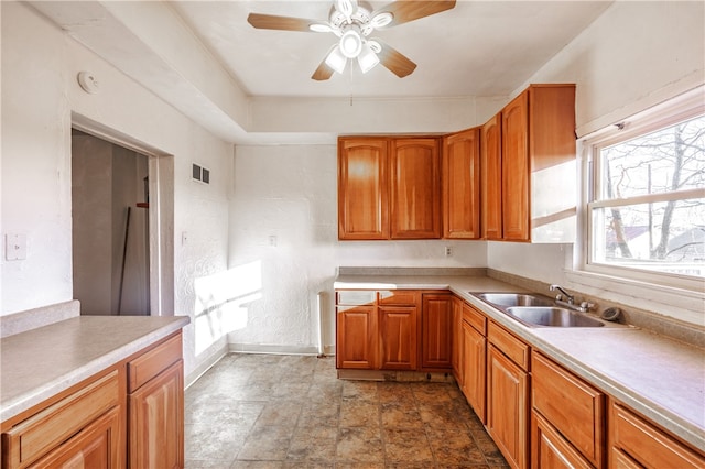
[[[529,468],[529,348],[490,321],[487,347],[487,430],[510,467]],[[512,357],[511,359],[509,357]],[[520,364],[521,366],[520,366]]]

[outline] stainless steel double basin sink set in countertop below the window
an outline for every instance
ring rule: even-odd
[[[529,327],[603,327],[605,323],[560,307],[547,296],[532,293],[475,293]]]

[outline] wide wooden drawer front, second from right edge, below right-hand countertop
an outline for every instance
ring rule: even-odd
[[[533,408],[593,465],[605,456],[605,395],[547,358],[533,353]]]

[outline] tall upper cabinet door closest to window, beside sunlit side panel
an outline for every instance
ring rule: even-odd
[[[502,237],[529,240],[529,94],[502,110]]]

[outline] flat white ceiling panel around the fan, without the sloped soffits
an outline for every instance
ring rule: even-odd
[[[389,1],[372,1],[380,9]],[[417,64],[398,78],[357,65],[327,81],[311,75],[332,33],[256,30],[250,12],[326,20],[332,1],[174,1],[196,35],[253,96],[505,96],[609,6],[606,1],[458,1],[454,9],[375,35]],[[350,76],[350,69],[354,70]]]

